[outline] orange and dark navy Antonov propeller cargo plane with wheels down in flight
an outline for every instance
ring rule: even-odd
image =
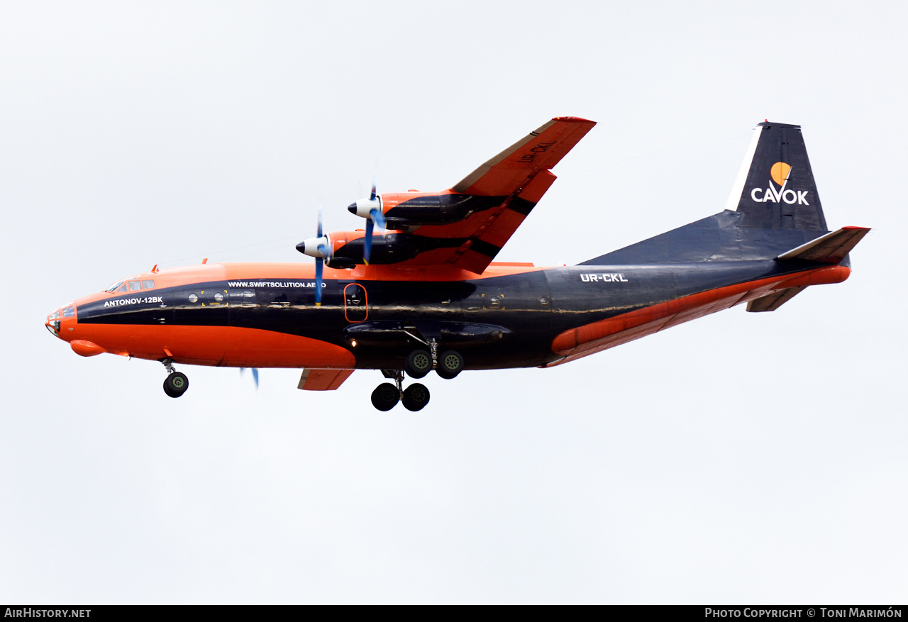
[[[826,228],[800,126],[768,120],[724,211],[575,266],[494,262],[595,124],[556,117],[442,192],[373,184],[348,207],[365,229],[323,233],[320,212],[297,244],[314,265],[154,266],[45,326],[85,357],[162,362],[172,398],[189,387],[174,363],[301,368],[303,390],[380,370],[373,406],[417,411],[429,389],[405,375],[562,365],[735,305],[776,311],[851,273],[870,230]]]

